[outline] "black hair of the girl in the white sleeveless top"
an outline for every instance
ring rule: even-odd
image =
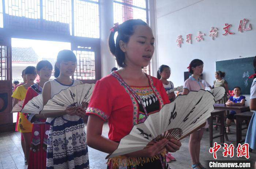
[[[66,62],[66,61],[76,62],[76,55],[71,50],[59,51],[59,53],[57,55],[56,63],[60,64],[60,62],[62,62],[62,61],[64,61],[64,62]],[[59,75],[60,75],[60,69],[56,66],[56,63],[54,65],[54,77],[55,78],[59,77]]]

